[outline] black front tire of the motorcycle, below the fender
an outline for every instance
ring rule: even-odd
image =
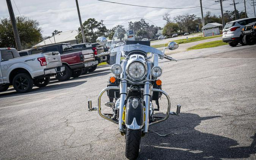
[[[125,155],[129,160],[135,160],[139,156],[141,129],[126,129]]]

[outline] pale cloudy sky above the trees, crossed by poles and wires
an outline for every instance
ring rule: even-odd
[[[142,6],[156,7],[194,7],[200,6],[199,0],[108,0],[112,2],[127,3]],[[223,9],[234,11],[234,6],[229,5],[233,0],[223,2]],[[143,8],[138,6],[127,6],[114,3],[101,2],[98,0],[79,0],[80,14],[82,22],[88,18],[95,18],[97,21],[104,20],[103,24],[108,29],[124,22],[124,19],[133,17],[146,18],[154,22],[158,27],[164,27],[166,21],[162,19],[165,13],[170,13],[171,17],[182,14],[195,14],[201,17],[200,8],[190,9],[157,9]],[[238,2],[236,8],[244,11],[243,0]],[[255,0],[256,2],[256,0]],[[68,31],[77,30],[80,26],[77,15],[75,0],[11,0],[15,16],[26,16],[38,20],[39,27],[42,28],[43,36],[51,36],[54,30]],[[215,0],[202,0],[203,6],[212,9],[203,8],[203,13],[211,11],[212,14],[220,15],[220,3]],[[254,17],[251,0],[246,0],[247,14]],[[218,9],[218,10],[216,10]],[[0,0],[0,18],[9,17],[6,0]]]

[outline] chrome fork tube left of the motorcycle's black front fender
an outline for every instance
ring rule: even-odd
[[[127,61],[123,61],[122,63],[123,73],[121,74],[121,78],[127,78],[126,72],[125,72],[126,64],[127,64]],[[119,105],[119,118],[118,118],[120,132],[124,131],[123,130],[123,112],[124,112],[126,96],[127,96],[127,81],[122,80],[120,83],[120,105]]]

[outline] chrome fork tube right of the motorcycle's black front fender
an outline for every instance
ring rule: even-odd
[[[147,77],[146,80],[151,80],[151,64],[152,63],[147,63],[147,67],[148,67],[148,73],[147,73]],[[150,81],[146,81],[144,83],[144,93],[143,93],[143,100],[144,100],[144,105],[146,108],[146,113],[145,113],[145,117],[146,119],[144,119],[145,121],[145,125],[144,125],[144,133],[148,132],[148,126],[149,126],[149,102],[150,102],[150,96],[151,96],[151,82]]]

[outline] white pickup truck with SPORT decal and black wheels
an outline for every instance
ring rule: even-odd
[[[19,93],[31,91],[33,85],[48,85],[50,76],[64,71],[59,52],[37,53],[20,57],[14,48],[0,48],[0,92],[10,85]]]

